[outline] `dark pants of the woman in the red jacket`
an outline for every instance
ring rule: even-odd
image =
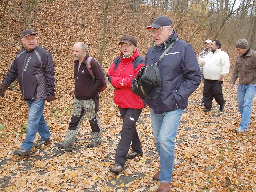
[[[132,147],[132,151],[142,152],[140,139],[136,130],[136,122],[142,109],[123,109],[119,107],[119,111],[123,119],[123,127],[121,139],[116,149],[115,163],[124,166],[130,146]]]

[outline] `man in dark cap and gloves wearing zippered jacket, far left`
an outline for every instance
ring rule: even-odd
[[[6,88],[18,77],[23,99],[28,104],[29,114],[26,139],[14,154],[26,156],[30,153],[37,132],[41,139],[34,144],[34,147],[51,142],[43,110],[45,99],[48,102],[55,100],[55,79],[52,56],[44,48],[37,46],[35,31],[26,29],[21,37],[25,48],[18,52],[4,77],[0,86],[0,96],[4,97]]]

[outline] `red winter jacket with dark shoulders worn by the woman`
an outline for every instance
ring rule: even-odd
[[[145,100],[132,92],[132,82],[145,60],[136,49],[131,57],[123,57],[120,53],[108,70],[108,80],[115,87],[114,102],[121,108],[141,109],[146,107]],[[124,79],[124,86],[120,83]]]

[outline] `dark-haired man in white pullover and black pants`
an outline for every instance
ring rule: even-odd
[[[221,50],[221,42],[213,40],[211,52],[204,58],[197,57],[199,65],[204,65],[204,112],[211,111],[213,97],[224,110],[225,100],[222,94],[222,82],[229,72],[229,56]]]

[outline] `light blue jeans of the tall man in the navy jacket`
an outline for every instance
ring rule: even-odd
[[[180,118],[184,109],[155,114],[150,108],[151,123],[155,139],[155,146],[160,156],[161,173],[159,179],[162,183],[172,181],[174,165],[174,139],[177,134]]]

